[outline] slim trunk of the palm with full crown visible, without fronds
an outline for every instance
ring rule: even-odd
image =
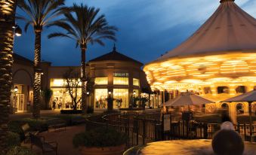
[[[85,46],[81,46],[81,80],[82,80],[82,99],[81,99],[81,103],[82,103],[82,111],[83,114],[86,114],[87,112],[87,107],[88,105],[86,104],[86,81],[85,81],[85,51],[86,51],[86,47]]]

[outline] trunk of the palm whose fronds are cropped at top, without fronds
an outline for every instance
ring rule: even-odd
[[[34,83],[33,83],[33,112],[34,119],[40,118],[40,90],[41,90],[41,31],[35,30],[35,59],[34,59]]]

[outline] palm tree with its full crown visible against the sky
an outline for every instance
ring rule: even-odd
[[[88,44],[104,45],[103,39],[116,41],[115,26],[109,26],[104,15],[97,16],[99,8],[86,5],[74,4],[69,11],[65,12],[63,19],[58,20],[49,26],[58,26],[66,31],[54,32],[48,38],[66,37],[76,41],[76,47],[81,50],[81,80],[82,80],[82,109],[85,113],[88,105],[86,99],[86,75],[85,75],[85,52]]]

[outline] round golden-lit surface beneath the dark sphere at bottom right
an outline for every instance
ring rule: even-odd
[[[214,155],[210,139],[157,141],[131,147],[124,155]],[[256,143],[245,142],[245,155],[256,154]]]

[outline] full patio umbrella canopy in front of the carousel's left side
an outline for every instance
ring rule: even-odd
[[[214,103],[211,100],[205,99],[198,95],[183,95],[176,99],[165,102],[165,106],[183,106],[183,105],[204,105],[207,103]]]

